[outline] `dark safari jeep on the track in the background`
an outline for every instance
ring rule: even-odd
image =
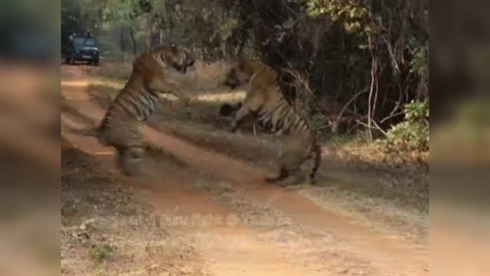
[[[93,37],[75,36],[69,44],[65,62],[75,64],[77,61],[87,61],[99,64],[99,49]]]

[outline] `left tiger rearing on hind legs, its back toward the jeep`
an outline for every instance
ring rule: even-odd
[[[124,174],[141,172],[146,144],[138,127],[156,109],[158,93],[172,93],[189,104],[190,97],[177,86],[195,61],[189,52],[172,43],[142,53],[133,62],[128,82],[95,130],[101,144],[116,148],[118,167]]]

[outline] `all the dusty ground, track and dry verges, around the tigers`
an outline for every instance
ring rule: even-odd
[[[369,170],[265,184],[267,135],[223,135],[212,116],[212,95],[226,91],[200,95],[187,120],[168,101],[142,127],[158,149],[151,174],[122,177],[112,149],[74,131],[97,123],[121,85],[90,73],[62,66],[63,275],[428,275],[424,213],[342,189],[376,186]]]

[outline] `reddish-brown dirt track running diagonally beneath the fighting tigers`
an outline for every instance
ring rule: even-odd
[[[104,111],[89,101],[85,90],[89,83],[90,76],[78,67],[62,67],[65,104],[97,122]],[[72,131],[90,127],[88,121],[62,112],[62,135],[118,174],[111,148]],[[122,178],[137,200],[150,204],[157,214],[182,221],[207,219],[205,225],[187,221],[169,226],[202,254],[203,273],[428,275],[427,244],[374,232],[358,218],[322,208],[292,188],[265,184],[261,179],[266,171],[259,167],[205,151],[149,126],[142,128],[152,144],[192,169],[179,171],[158,163],[151,179]],[[206,184],[200,185],[203,181]],[[214,221],[209,223],[210,219]]]

